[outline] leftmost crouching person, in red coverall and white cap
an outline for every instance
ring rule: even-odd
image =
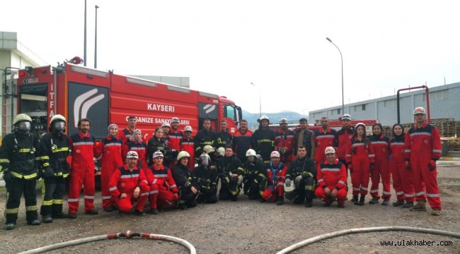
[[[120,212],[130,212],[137,201],[135,214],[144,216],[144,206],[149,198],[149,186],[144,171],[137,167],[137,152],[130,151],[126,155],[125,166],[113,173],[109,183],[109,191],[117,202]]]

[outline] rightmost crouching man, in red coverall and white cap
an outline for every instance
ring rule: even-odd
[[[318,150],[316,150],[318,151]],[[337,200],[339,208],[343,208],[345,198],[347,197],[346,182],[347,182],[347,169],[345,164],[335,159],[334,147],[326,147],[324,150],[326,161],[318,165],[318,188],[316,188],[315,195],[321,198],[324,206]]]

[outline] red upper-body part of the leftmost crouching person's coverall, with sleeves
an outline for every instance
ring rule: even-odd
[[[146,188],[147,179],[141,168],[135,167],[130,171],[125,165],[115,170],[108,186],[110,194],[114,198],[119,198],[121,193],[134,193],[134,189],[138,186],[141,190]]]

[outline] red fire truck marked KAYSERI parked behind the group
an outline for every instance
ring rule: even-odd
[[[97,138],[107,135],[110,123],[125,128],[127,116],[134,115],[146,140],[173,116],[180,119],[181,131],[190,125],[194,134],[206,117],[214,131],[225,119],[233,133],[242,117],[241,108],[223,96],[71,63],[20,70],[17,95],[18,113],[33,119],[38,134],[47,131],[54,114],[66,117],[69,135],[78,131],[79,119],[90,119],[90,132]]]

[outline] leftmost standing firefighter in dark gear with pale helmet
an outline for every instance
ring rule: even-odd
[[[14,130],[8,133],[0,147],[0,170],[6,183],[6,230],[14,229],[18,219],[21,196],[24,193],[25,219],[28,225],[40,225],[37,194],[35,191],[38,170],[38,138],[30,134],[32,119],[18,114],[13,119]]]

